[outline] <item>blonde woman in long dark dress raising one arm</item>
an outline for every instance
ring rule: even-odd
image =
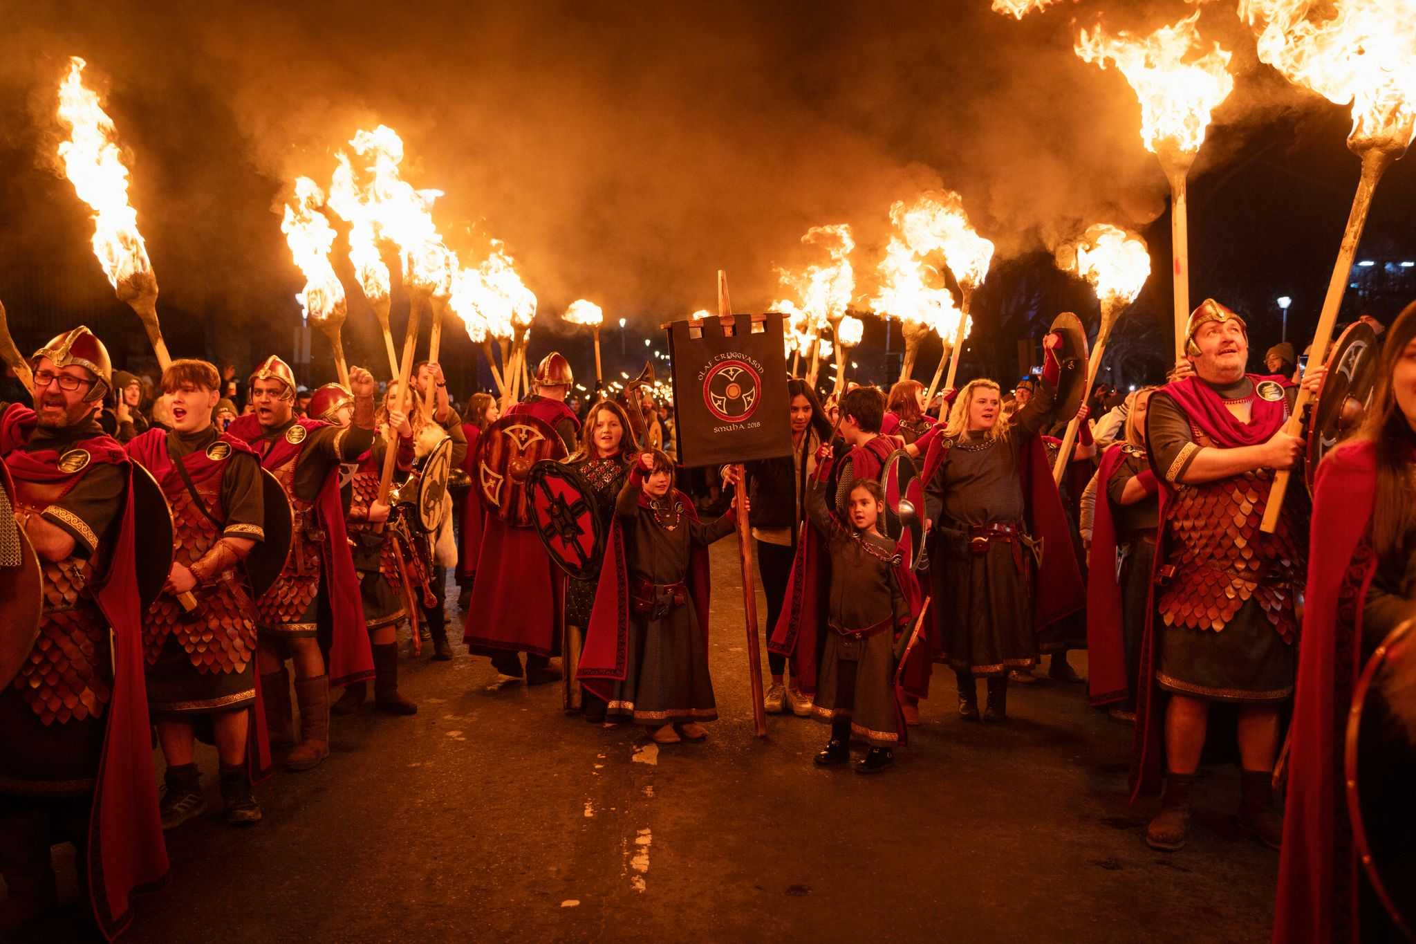
[[[1059,344],[1055,334],[1044,338],[1042,382],[1011,422],[998,385],[970,381],[925,460],[936,658],[954,669],[966,720],[980,718],[980,675],[988,682],[983,716],[1005,718],[1008,669],[1034,665],[1037,633],[1085,603],[1041,440],[1061,371]],[[1039,543],[1046,555],[1037,553]]]

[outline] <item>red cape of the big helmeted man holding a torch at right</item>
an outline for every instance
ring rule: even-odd
[[[1281,376],[1246,375],[1255,385],[1263,381],[1291,386]],[[1205,433],[1219,449],[1238,449],[1267,442],[1289,415],[1286,398],[1266,401],[1253,398],[1249,422],[1240,423],[1225,409],[1225,402],[1212,386],[1195,376],[1167,384],[1153,393],[1174,399],[1191,425]],[[1154,402],[1154,401],[1153,401]],[[1141,635],[1141,662],[1136,681],[1136,747],[1131,770],[1131,800],[1160,791],[1165,739],[1161,732],[1164,710],[1155,698],[1155,577],[1165,566],[1165,525],[1170,514],[1170,500],[1175,487],[1165,478],[1164,468],[1155,468],[1155,454],[1150,453],[1151,470],[1160,488],[1160,528],[1155,534],[1155,565],[1151,570],[1150,596],[1146,600],[1146,633]]]

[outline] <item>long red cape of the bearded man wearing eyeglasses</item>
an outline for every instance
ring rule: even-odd
[[[18,449],[33,429],[34,412],[28,408],[11,406],[0,418],[0,453],[10,476],[16,481],[42,483],[74,477],[59,471],[58,451],[27,453]],[[113,940],[132,921],[133,893],[164,882],[169,862],[157,814],[157,780],[153,777],[147,718],[142,604],[133,546],[133,470],[127,453],[110,436],[95,436],[72,447],[88,450],[91,461],[122,467],[127,478],[108,573],[93,590],[93,599],[113,630],[113,693],[93,787],[88,880],[99,930]]]

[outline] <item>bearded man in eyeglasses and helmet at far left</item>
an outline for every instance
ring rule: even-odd
[[[13,679],[0,678],[0,872],[8,886],[0,928],[54,906],[50,846],[71,841],[79,900],[92,900],[98,928],[112,937],[127,921],[129,893],[167,873],[143,681],[133,470],[95,420],[112,367],[88,328],[40,348],[31,369],[34,409],[0,403],[14,517],[44,577],[37,638],[0,610],[0,647],[24,657]]]

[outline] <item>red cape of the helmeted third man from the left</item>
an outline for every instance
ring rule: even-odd
[[[297,418],[295,422],[304,427],[306,433],[329,426],[329,423],[303,418]],[[265,436],[265,429],[253,413],[248,413],[238,416],[227,427],[227,433],[255,443]],[[306,442],[309,442],[309,436],[299,443],[278,436],[261,464],[266,468],[279,468],[303,451]],[[364,601],[358,593],[348,592],[357,589],[360,580],[354,570],[354,558],[350,553],[348,534],[344,529],[338,466],[330,470],[330,474],[324,477],[324,484],[320,485],[320,494],[314,498],[314,515],[324,531],[326,570],[321,590],[329,594],[330,613],[334,620],[326,672],[330,677],[330,685],[368,681],[374,678],[374,651],[370,648],[368,628],[364,626]]]

